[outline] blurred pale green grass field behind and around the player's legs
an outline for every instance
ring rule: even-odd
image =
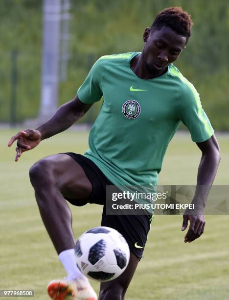
[[[16,131],[0,131],[0,289],[34,289],[35,299],[46,300],[47,283],[65,272],[40,218],[28,170],[49,154],[83,153],[88,132],[61,133],[15,163],[14,148],[8,149],[7,142]],[[222,160],[214,184],[228,185],[229,136],[220,135],[218,140]],[[195,184],[200,157],[189,135],[177,134],[166,153],[159,183]],[[102,207],[71,208],[76,237],[100,224]],[[207,215],[205,233],[190,244],[183,243],[182,220],[182,216],[155,217],[127,300],[229,299],[229,215]],[[98,291],[99,285],[92,284]]]

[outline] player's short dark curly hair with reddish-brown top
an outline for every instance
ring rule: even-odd
[[[168,7],[158,13],[150,30],[159,30],[162,26],[168,26],[176,33],[185,36],[187,44],[191,35],[192,25],[191,16],[186,11],[183,11],[182,7]]]

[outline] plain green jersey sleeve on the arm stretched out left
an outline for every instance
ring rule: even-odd
[[[79,99],[84,103],[94,103],[99,101],[102,96],[102,66],[101,60],[97,60],[92,66],[91,71],[77,91]]]

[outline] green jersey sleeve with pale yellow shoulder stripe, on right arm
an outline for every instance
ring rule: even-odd
[[[196,143],[206,141],[212,136],[214,130],[202,108],[198,92],[188,80],[185,80],[180,96],[180,120],[190,131],[192,141]]]

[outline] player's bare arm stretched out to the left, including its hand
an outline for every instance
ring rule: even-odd
[[[42,140],[68,129],[84,116],[92,104],[81,102],[76,96],[73,100],[61,105],[53,116],[37,129],[25,129],[12,136],[8,146],[18,140],[15,161],[18,161],[24,151],[35,148]]]

